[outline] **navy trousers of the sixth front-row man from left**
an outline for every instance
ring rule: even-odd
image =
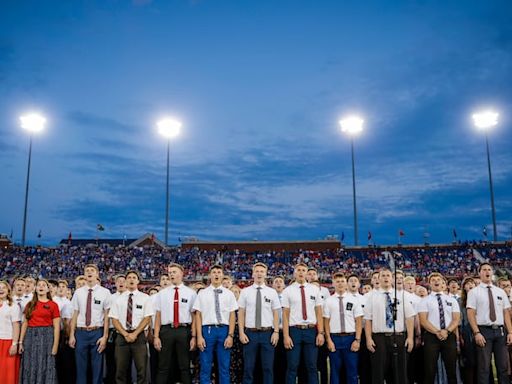
[[[293,348],[286,351],[288,366],[286,367],[286,384],[295,384],[299,368],[301,351],[304,354],[304,365],[307,372],[307,383],[318,384],[316,360],[318,348],[316,346],[316,329],[299,329],[290,327],[290,337]]]

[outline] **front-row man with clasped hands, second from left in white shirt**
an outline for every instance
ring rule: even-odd
[[[118,335],[116,337],[116,383],[131,383],[132,362],[137,371],[137,384],[148,382],[147,376],[147,339],[148,327],[153,306],[149,295],[138,290],[140,277],[136,271],[126,273],[126,291],[112,304],[109,317],[112,319]]]

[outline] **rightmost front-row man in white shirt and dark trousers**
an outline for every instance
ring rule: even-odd
[[[478,268],[480,284],[469,291],[466,308],[475,337],[477,376],[479,383],[489,380],[491,358],[494,354],[498,383],[508,383],[507,344],[512,344],[510,302],[507,294],[492,284],[494,270],[489,263]]]

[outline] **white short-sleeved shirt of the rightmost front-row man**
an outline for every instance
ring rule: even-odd
[[[491,287],[492,291],[496,321],[491,321],[490,318],[488,286]],[[476,323],[478,325],[504,325],[503,310],[510,308],[510,301],[503,289],[492,284],[480,283],[468,292],[466,308],[476,310]]]

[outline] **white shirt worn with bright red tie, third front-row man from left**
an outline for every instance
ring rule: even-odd
[[[192,324],[192,312],[197,293],[184,284],[169,285],[155,295],[155,313],[161,314],[161,325],[174,322],[174,295],[178,288],[178,313],[180,324]]]

